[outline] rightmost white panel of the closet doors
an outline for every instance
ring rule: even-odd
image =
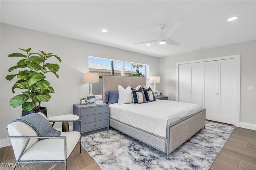
[[[219,69],[219,114],[218,121],[235,124],[236,60],[220,60]]]

